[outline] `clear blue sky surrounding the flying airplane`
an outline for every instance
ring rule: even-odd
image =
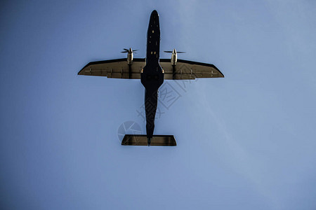
[[[314,1],[4,1],[0,7],[2,209],[315,209]],[[162,50],[225,78],[178,92],[145,132],[139,80],[77,76],[88,62]],[[183,85],[183,84],[182,84]],[[182,86],[184,87],[184,86]]]

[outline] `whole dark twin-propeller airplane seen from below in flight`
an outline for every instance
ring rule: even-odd
[[[126,134],[121,145],[176,146],[176,139],[173,135],[154,135],[154,118],[157,111],[159,87],[164,83],[164,80],[224,77],[223,73],[213,64],[177,59],[176,49],[165,51],[171,52],[171,59],[159,59],[159,48],[159,15],[157,10],[153,10],[147,29],[147,53],[145,58],[133,58],[133,52],[136,50],[124,48],[122,52],[127,52],[127,59],[89,62],[78,73],[78,75],[85,76],[140,79],[145,87],[146,135]]]

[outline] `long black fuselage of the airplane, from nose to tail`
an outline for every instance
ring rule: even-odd
[[[140,75],[145,87],[145,113],[148,145],[154,133],[154,117],[157,111],[158,89],[164,83],[164,72],[159,64],[160,27],[159,15],[156,10],[150,15],[147,30],[146,65]]]

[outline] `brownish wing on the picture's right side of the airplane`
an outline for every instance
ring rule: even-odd
[[[194,80],[195,78],[224,77],[223,73],[213,64],[192,62],[178,59],[176,66],[172,66],[170,59],[160,59],[160,66],[164,69],[165,80]]]

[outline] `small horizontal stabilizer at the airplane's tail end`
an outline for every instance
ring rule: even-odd
[[[146,135],[126,134],[121,145],[147,146],[147,137]],[[150,146],[177,146],[177,143],[173,135],[154,135]]]

